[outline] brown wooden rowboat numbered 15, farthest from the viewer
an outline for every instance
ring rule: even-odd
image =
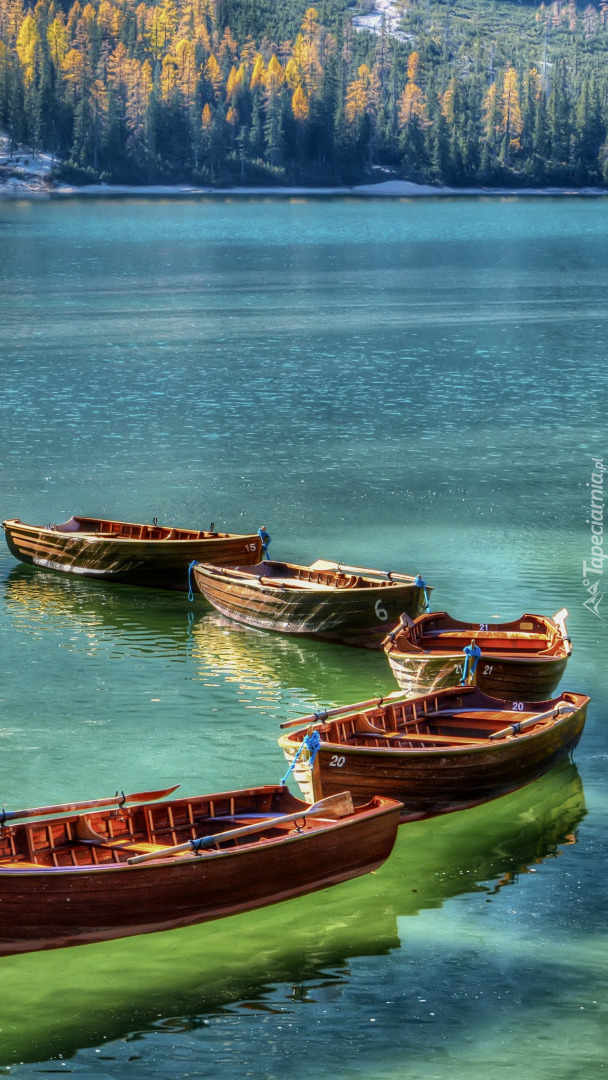
[[[190,563],[247,565],[261,557],[256,534],[216,532],[141,525],[99,517],[70,517],[63,525],[2,522],[11,553],[22,563],[102,581],[151,589],[188,590]]]

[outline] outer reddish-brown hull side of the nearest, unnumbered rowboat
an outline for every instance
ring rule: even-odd
[[[301,832],[271,833],[264,841],[254,837],[200,855],[189,852],[140,865],[0,867],[0,955],[224,918],[366,874],[389,856],[397,804],[374,799],[363,812],[324,820],[322,826],[312,819],[305,824],[306,809]]]

